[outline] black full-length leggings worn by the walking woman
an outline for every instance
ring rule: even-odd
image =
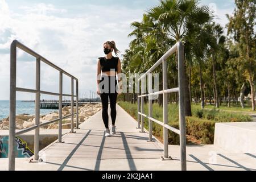
[[[103,81],[103,80],[101,80]],[[105,92],[102,90],[101,91],[101,103],[102,103],[102,119],[104,122],[104,125],[106,129],[109,129],[109,114],[108,114],[108,107],[109,107],[109,100],[110,100],[110,115],[112,119],[112,125],[115,125],[115,118],[117,117],[117,110],[116,110],[116,103],[117,103],[117,91],[114,86],[117,85],[117,80],[112,80],[115,82],[114,85],[110,85],[110,77],[108,86],[109,89],[106,89]],[[111,89],[110,89],[111,88]],[[102,86],[102,89],[104,89],[104,85]]]

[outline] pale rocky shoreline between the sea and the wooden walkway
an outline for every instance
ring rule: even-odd
[[[102,108],[101,104],[85,104],[79,106],[79,123],[86,121],[89,117],[96,114]],[[74,107],[74,113],[76,113],[76,107]],[[71,114],[71,106],[63,107],[63,116]],[[40,115],[40,123],[45,123],[59,118],[59,112],[53,112],[46,115]],[[16,115],[16,129],[27,129],[35,125],[35,115],[20,114]],[[74,115],[74,126],[76,127],[76,115]],[[58,129],[58,122],[52,123],[40,129]],[[63,129],[71,129],[71,117],[63,119]],[[0,120],[0,130],[9,130],[9,117]]]

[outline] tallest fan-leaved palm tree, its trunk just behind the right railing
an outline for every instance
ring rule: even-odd
[[[186,64],[192,61],[191,48],[187,37],[195,34],[195,27],[203,25],[212,20],[212,11],[208,6],[199,6],[196,0],[161,0],[160,5],[148,10],[150,16],[155,22],[162,26],[165,34],[175,40],[182,41],[185,44]],[[184,68],[186,70],[186,64]],[[192,115],[191,100],[188,86],[188,74],[185,73],[185,115]]]

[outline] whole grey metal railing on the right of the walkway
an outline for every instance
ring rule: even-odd
[[[177,51],[178,58],[178,74],[179,74],[179,87],[168,89],[167,88],[167,61],[173,53]],[[163,90],[160,92],[152,92],[152,78],[149,75],[154,71],[158,65],[163,64]],[[152,141],[152,121],[163,126],[163,139],[164,139],[164,158],[168,156],[168,130],[173,131],[180,135],[180,156],[181,156],[181,170],[187,170],[186,163],[186,126],[185,126],[185,98],[184,98],[184,46],[183,43],[177,42],[169,51],[167,51],[146,73],[144,73],[138,79],[138,93],[140,90],[144,92],[144,79],[148,75],[148,94],[141,94],[138,96],[138,129],[144,132],[144,118],[148,118],[148,140]],[[141,86],[140,86],[141,82]],[[140,89],[141,88],[141,89]],[[179,92],[179,125],[180,130],[168,125],[168,93]],[[152,99],[150,97],[154,95],[163,94],[163,122],[152,118]],[[144,100],[142,98],[148,97],[148,115],[144,114]],[[141,127],[140,127],[141,122]]]

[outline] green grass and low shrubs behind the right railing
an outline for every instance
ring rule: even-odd
[[[137,103],[119,102],[119,105],[127,111],[133,118],[138,119]],[[163,108],[158,104],[152,105],[152,117],[163,122]],[[148,104],[144,105],[144,114],[148,115]],[[144,127],[148,130],[148,119],[144,120]],[[214,126],[216,122],[249,122],[252,121],[251,116],[241,113],[232,113],[229,111],[220,111],[216,109],[205,110],[200,109],[196,105],[192,105],[192,117],[186,117],[187,131],[186,133],[197,140],[201,144],[213,144]],[[179,107],[176,104],[168,105],[168,125],[179,129]],[[155,137],[161,141],[163,138],[163,127],[152,122],[152,130]],[[179,135],[169,132],[169,144],[179,144]]]

